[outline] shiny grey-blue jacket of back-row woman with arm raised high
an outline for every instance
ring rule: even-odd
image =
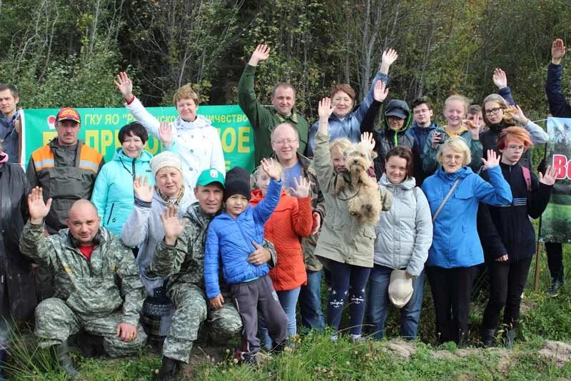
[[[363,102],[360,104],[358,109],[350,112],[350,114],[342,119],[336,117],[335,114],[331,114],[329,117],[330,142],[333,142],[333,140],[340,137],[346,137],[351,141],[351,143],[358,143],[361,141],[361,121],[363,121],[363,117],[365,117],[370,104],[373,103],[373,91],[375,89],[375,83],[377,83],[378,80],[381,80],[386,84],[388,81],[388,75],[379,72],[377,75],[375,75],[375,78],[373,78],[373,81],[370,84],[369,92],[365,99],[363,99]],[[318,127],[319,121],[315,122],[309,130],[306,155],[308,157],[313,157],[313,148],[315,147],[315,134],[317,134]]]

